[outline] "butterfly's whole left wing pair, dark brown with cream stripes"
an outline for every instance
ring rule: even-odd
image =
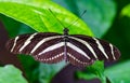
[[[11,53],[32,55],[39,61],[52,64],[63,59],[63,46],[54,45],[62,40],[61,34],[53,32],[21,34],[9,40],[6,49]]]

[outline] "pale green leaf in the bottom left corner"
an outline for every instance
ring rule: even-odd
[[[14,66],[0,67],[0,83],[27,83],[22,72]]]

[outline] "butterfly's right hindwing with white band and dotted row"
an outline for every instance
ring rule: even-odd
[[[66,54],[67,60],[79,67],[84,67],[93,64],[93,59],[91,59],[86,53],[86,46],[80,42],[77,42],[74,39],[68,38],[68,42],[66,42]]]

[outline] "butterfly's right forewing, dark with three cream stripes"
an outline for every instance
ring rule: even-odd
[[[76,43],[86,53],[88,59],[113,61],[120,56],[118,49],[106,41],[82,34],[72,34],[68,38],[73,40],[69,42]]]

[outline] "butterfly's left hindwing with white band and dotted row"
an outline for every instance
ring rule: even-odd
[[[54,42],[55,40],[55,42]],[[47,42],[48,45],[42,45],[41,51],[35,56],[35,58],[42,63],[54,64],[64,59],[64,42],[61,38]]]

